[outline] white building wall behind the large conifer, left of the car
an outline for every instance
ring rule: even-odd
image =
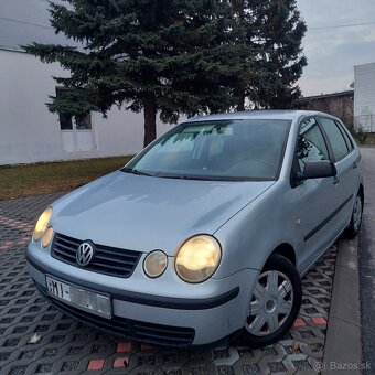
[[[58,116],[45,106],[55,95],[52,76],[66,76],[58,64],[0,50],[0,164],[133,154],[143,144],[143,115],[114,107],[104,119],[92,114],[95,148],[63,150]],[[158,122],[158,136],[171,128]]]

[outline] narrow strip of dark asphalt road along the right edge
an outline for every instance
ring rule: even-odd
[[[365,183],[365,205],[360,234],[360,293],[364,362],[366,374],[375,374],[375,147],[361,148]]]

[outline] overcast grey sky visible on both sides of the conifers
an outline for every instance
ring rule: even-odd
[[[0,46],[17,49],[32,41],[66,44],[49,26],[46,4],[0,0]],[[303,96],[350,89],[354,65],[375,62],[375,0],[297,0],[297,7],[308,26],[302,41],[308,66],[298,83]],[[349,26],[358,23],[372,24]]]

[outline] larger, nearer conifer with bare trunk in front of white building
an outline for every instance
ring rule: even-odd
[[[235,100],[238,50],[232,8],[219,0],[64,0],[51,23],[82,47],[33,43],[24,50],[58,62],[68,88],[49,109],[82,116],[113,105],[144,114],[144,146],[156,119],[228,109]]]

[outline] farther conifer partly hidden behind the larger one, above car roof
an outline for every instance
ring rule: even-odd
[[[243,96],[237,95],[237,109],[244,98],[261,108],[290,108],[301,95],[296,85],[307,60],[301,42],[306,24],[296,0],[233,0],[237,20],[245,30],[254,58],[243,73]]]

